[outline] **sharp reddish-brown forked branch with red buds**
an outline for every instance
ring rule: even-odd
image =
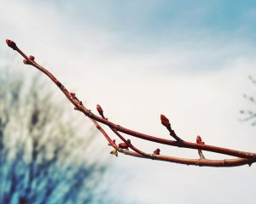
[[[144,159],[170,161],[170,162],[175,162],[180,164],[195,165],[195,166],[201,166],[201,167],[237,167],[245,164],[248,164],[249,166],[251,166],[253,162],[256,162],[256,153],[250,153],[250,152],[245,152],[240,150],[231,150],[231,149],[222,148],[218,146],[208,145],[202,142],[200,136],[197,137],[196,143],[187,142],[179,138],[177,134],[174,132],[174,130],[172,129],[171,123],[164,115],[160,116],[160,121],[162,125],[167,128],[170,135],[175,140],[162,139],[160,137],[151,136],[145,133],[139,133],[129,128],[119,126],[114,122],[110,122],[108,118],[104,116],[102,107],[100,105],[96,106],[96,109],[100,114],[100,116],[97,116],[96,114],[94,114],[92,111],[90,111],[83,105],[82,101],[79,100],[76,94],[69,92],[67,88],[65,88],[64,85],[60,81],[58,81],[53,74],[51,74],[43,66],[38,65],[38,63],[35,61],[35,58],[32,55],[28,57],[26,54],[24,54],[20,50],[20,48],[17,47],[15,42],[11,40],[6,40],[6,42],[10,48],[13,48],[24,58],[23,60],[24,64],[32,65],[35,68],[37,68],[39,71],[42,71],[47,77],[50,78],[52,82],[56,84],[58,88],[61,89],[61,92],[65,94],[67,99],[69,99],[69,101],[74,105],[75,110],[81,111],[82,113],[84,113],[85,116],[88,116],[90,118],[90,120],[95,124],[95,126],[99,129],[99,131],[103,134],[103,136],[108,140],[108,143],[113,147],[111,154],[115,156],[118,156],[118,152],[120,152],[125,155],[136,156]],[[111,139],[108,136],[108,133],[106,133],[104,129],[100,126],[100,123],[107,125],[113,131],[113,133],[115,133],[119,137],[119,139],[123,141],[123,143],[116,144],[115,139]],[[122,136],[120,133],[125,133],[127,135],[134,136],[139,139],[148,140],[154,143],[198,150],[198,154],[200,158],[188,159],[188,158],[178,158],[173,156],[164,156],[164,155],[160,155],[160,149],[158,148],[155,149],[153,153],[145,153],[143,150],[139,150],[137,147],[135,147],[134,144],[131,143],[130,139],[125,139],[125,137]],[[131,150],[129,150],[129,148]],[[206,159],[205,156],[203,156],[202,150],[212,151],[212,152],[223,154],[226,156],[236,156],[236,158],[224,159],[224,160],[209,160],[209,159]]]

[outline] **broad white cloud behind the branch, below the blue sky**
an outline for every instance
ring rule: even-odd
[[[129,42],[120,41],[114,31],[91,24],[77,27],[74,17],[70,20],[49,5],[4,4],[0,8],[2,42],[13,38],[91,109],[101,104],[113,122],[168,138],[160,125],[159,116],[164,113],[183,139],[195,140],[201,134],[207,144],[255,150],[255,130],[237,120],[238,111],[246,105],[241,95],[249,88],[247,75],[255,73],[255,50],[248,45],[205,40],[176,42],[173,47],[166,43],[132,53],[125,50]],[[12,52],[3,43],[0,49]],[[145,150],[158,145],[132,141]],[[197,156],[193,150],[166,146],[161,150],[174,156]],[[253,203],[250,189],[255,185],[255,167],[185,167],[127,156],[113,162],[122,173],[117,179],[131,176],[119,186],[120,194],[137,203],[240,203],[244,197]]]

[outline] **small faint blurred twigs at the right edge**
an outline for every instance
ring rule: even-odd
[[[256,85],[256,80],[249,76],[249,80],[253,83],[253,85]],[[252,102],[253,104],[256,103],[256,99],[252,96],[252,95],[247,95],[247,94],[244,94],[243,97],[247,100],[249,100],[250,102]],[[248,111],[245,111],[245,110],[241,110],[240,113],[244,116],[243,119],[241,119],[241,121],[243,122],[252,122],[252,126],[255,126],[256,125],[256,111],[253,111],[253,110],[248,110]]]

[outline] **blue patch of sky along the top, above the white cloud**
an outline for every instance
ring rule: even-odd
[[[188,42],[211,34],[255,40],[253,1],[59,1],[55,8],[80,26],[101,27],[138,44]]]

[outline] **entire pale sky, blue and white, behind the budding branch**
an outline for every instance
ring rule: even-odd
[[[4,44],[12,39],[88,108],[101,104],[113,122],[168,139],[163,113],[185,140],[200,134],[207,144],[256,151],[256,127],[240,122],[239,113],[254,108],[242,95],[256,90],[248,80],[256,76],[255,1],[0,3],[1,63],[16,55]],[[37,72],[17,65],[28,76]],[[196,150],[129,138],[149,152],[160,147],[163,154],[198,157]],[[188,167],[128,156],[111,161],[111,179],[125,183],[109,178],[109,185],[124,201],[255,203],[254,165]]]

